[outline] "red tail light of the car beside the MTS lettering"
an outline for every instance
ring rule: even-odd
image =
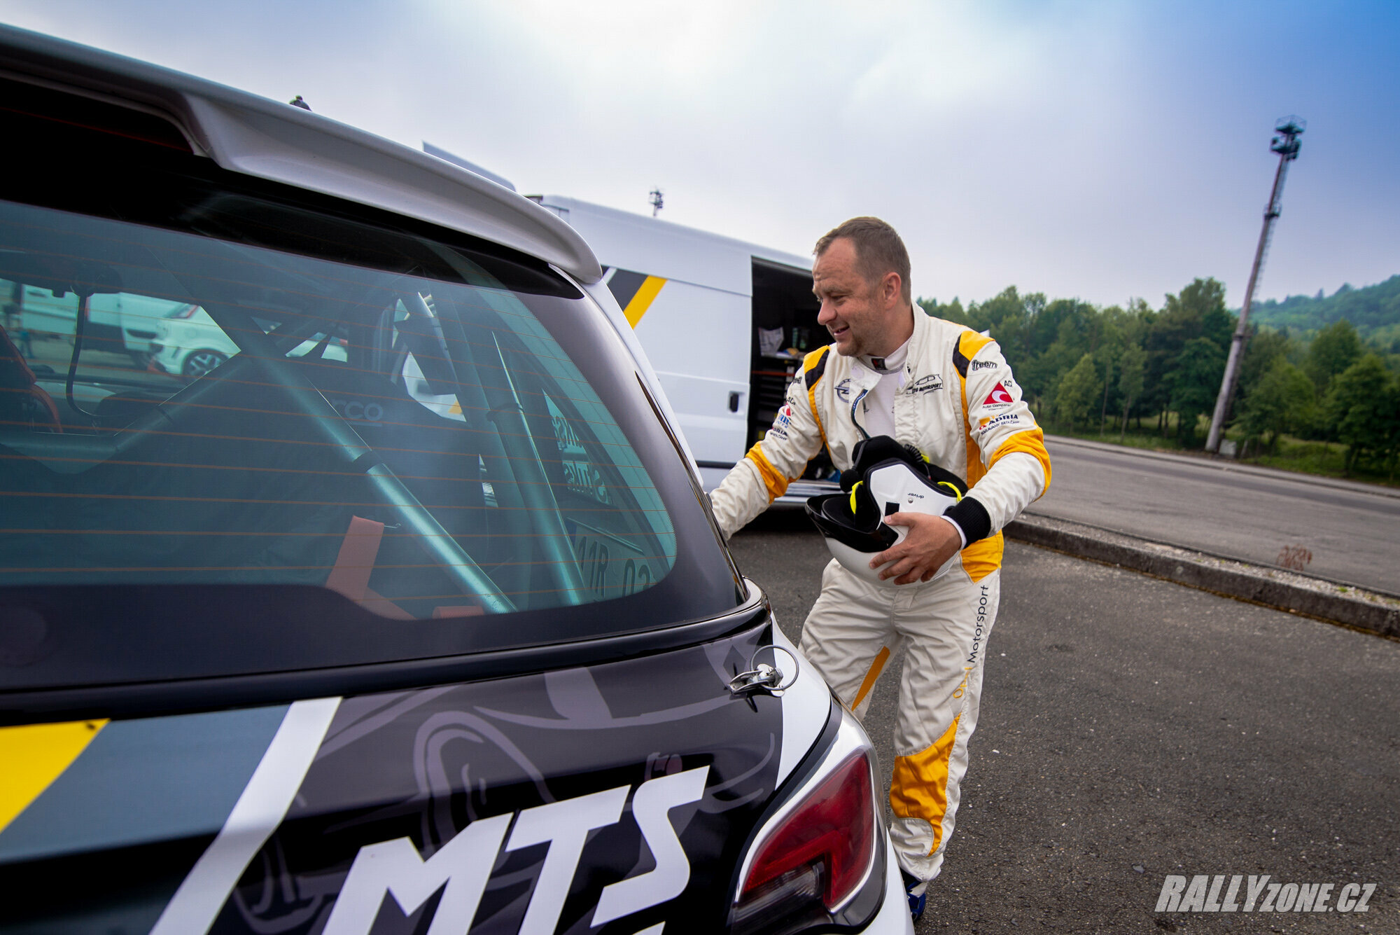
[[[736,935],[799,932],[868,915],[869,900],[855,897],[869,889],[876,864],[883,868],[882,809],[869,740],[848,712],[841,715],[820,764],[750,845],[731,913]],[[862,903],[854,907],[861,918],[846,918],[854,901]]]

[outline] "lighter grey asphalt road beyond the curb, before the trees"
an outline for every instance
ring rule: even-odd
[[[1400,491],[1049,438],[1054,479],[1030,512],[1400,593]]]

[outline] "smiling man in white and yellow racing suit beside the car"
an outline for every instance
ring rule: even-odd
[[[851,449],[874,435],[914,445],[966,480],[967,495],[946,516],[886,516],[909,535],[869,564],[895,561],[881,578],[896,586],[827,564],[802,631],[804,655],[858,715],[885,662],[904,649],[890,834],[917,918],[942,866],[977,725],[1001,528],[1044,493],[1050,458],[997,343],[913,307],[909,253],[893,228],[853,218],[818,241],[815,255],[818,321],[834,343],[802,361],[773,428],[713,493],[714,515],[731,536],[823,445],[848,470]],[[958,551],[960,563],[931,581]]]

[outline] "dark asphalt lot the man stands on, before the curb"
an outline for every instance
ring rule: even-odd
[[[827,557],[805,523],[731,542],[794,640]],[[920,932],[1400,932],[1400,642],[1019,543],[1002,575]],[[896,672],[865,722],[883,768]],[[1168,873],[1379,887],[1365,915],[1158,915]]]

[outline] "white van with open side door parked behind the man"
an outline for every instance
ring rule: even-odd
[[[827,343],[811,258],[578,199],[532,199],[603,263],[713,490],[773,424],[802,357]],[[823,451],[781,501],[826,493],[834,473]]]

